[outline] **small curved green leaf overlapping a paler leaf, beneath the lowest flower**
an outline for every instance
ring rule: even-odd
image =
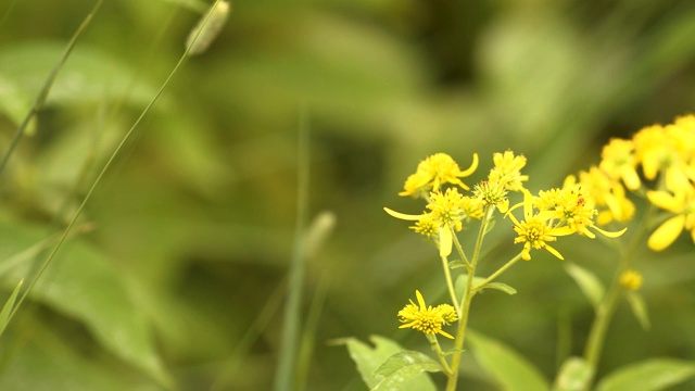
[[[371,390],[401,390],[402,384],[407,383],[407,381],[424,371],[442,371],[442,366],[420,352],[399,352],[375,370],[375,378],[382,377],[383,379]]]

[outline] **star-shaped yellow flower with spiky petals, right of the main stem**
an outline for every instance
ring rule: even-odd
[[[511,211],[516,207],[523,206],[523,220],[519,222]],[[552,225],[552,216],[549,214],[533,214],[533,195],[528,190],[523,191],[523,202],[514,206],[507,212],[507,215],[514,222],[514,230],[518,237],[514,239],[515,243],[523,243],[521,250],[521,258],[531,260],[531,248],[535,250],[545,249],[551,254],[564,260],[563,255],[551,247],[547,242],[556,241],[558,236],[570,235],[573,231],[565,227],[554,227]]]

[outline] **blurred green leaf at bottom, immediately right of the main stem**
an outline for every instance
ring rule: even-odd
[[[468,331],[470,352],[505,391],[546,391],[547,380],[526,358],[510,348],[478,332]]]

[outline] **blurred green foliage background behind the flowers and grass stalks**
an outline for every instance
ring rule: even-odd
[[[93,2],[0,5],[2,153]],[[382,207],[428,154],[462,167],[528,157],[533,190],[596,163],[610,137],[695,106],[692,1],[236,1],[210,50],[189,59],[126,143],[0,339],[2,390],[270,389],[296,223],[298,134],[311,128],[308,214],[336,216],[305,264],[300,343],[309,390],[365,389],[344,346],[372,333],[427,350],[395,314],[445,298],[434,250]],[[0,175],[0,279],[30,277],[110,153],[164,83],[206,8],[106,1]],[[494,270],[517,248],[498,224]],[[558,243],[611,277],[599,241]],[[695,264],[685,237],[635,266],[653,328],[626,305],[599,376],[650,356],[695,357]],[[471,327],[552,378],[581,354],[593,313],[563,263],[539,254],[505,275]],[[317,308],[317,310],[316,310]],[[469,389],[494,390],[468,363]],[[682,390],[694,389],[695,382]]]

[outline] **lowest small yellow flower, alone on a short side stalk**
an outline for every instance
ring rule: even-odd
[[[418,331],[422,331],[426,335],[442,335],[446,338],[454,339],[448,332],[442,330],[442,325],[448,325],[456,321],[456,311],[452,305],[441,304],[435,307],[425,304],[425,299],[420,291],[416,290],[418,304],[415,304],[410,300],[409,304],[399,311],[399,317],[401,318],[401,325],[399,328],[412,328]]]

